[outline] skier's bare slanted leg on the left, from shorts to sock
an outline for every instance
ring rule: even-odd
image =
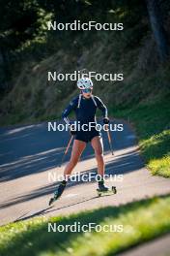
[[[71,175],[71,171],[76,166],[84,148],[86,147],[86,143],[74,140],[71,151],[71,160],[64,171],[64,176],[67,179],[67,176]]]

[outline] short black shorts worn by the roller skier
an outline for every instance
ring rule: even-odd
[[[92,131],[79,131],[75,135],[75,140],[84,142],[84,143],[89,143],[94,139],[96,136],[101,137],[101,134],[97,130],[92,130]]]

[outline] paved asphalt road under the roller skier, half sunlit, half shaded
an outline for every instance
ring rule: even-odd
[[[117,121],[121,123],[122,121]],[[151,176],[137,150],[133,131],[124,122],[123,132],[112,132],[114,156],[109,152],[103,133],[106,184],[116,185],[118,193],[97,197],[97,182],[71,181],[62,198],[53,207],[48,201],[58,177],[63,174],[71,149],[61,168],[60,163],[69,140],[67,132],[48,132],[47,123],[0,128],[0,221],[1,225],[33,216],[69,214],[83,209],[118,206],[133,200],[170,193],[170,179]],[[97,172],[90,144],[87,145],[74,173]],[[94,175],[93,175],[94,176]]]

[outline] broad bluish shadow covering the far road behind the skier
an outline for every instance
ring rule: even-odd
[[[112,132],[113,147],[116,150],[134,144],[133,135],[131,135],[126,123],[124,127],[123,132]],[[106,134],[102,133],[102,136],[104,151],[108,151],[109,144]],[[0,182],[55,168],[61,161],[69,139],[68,132],[48,132],[47,123],[7,129],[1,128]],[[70,155],[71,150],[65,162],[70,159]],[[88,144],[83,152],[82,160],[92,157],[94,157],[94,151]]]

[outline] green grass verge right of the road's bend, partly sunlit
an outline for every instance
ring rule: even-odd
[[[141,153],[153,175],[170,177],[170,100],[142,104],[116,112],[129,119],[136,131]]]

